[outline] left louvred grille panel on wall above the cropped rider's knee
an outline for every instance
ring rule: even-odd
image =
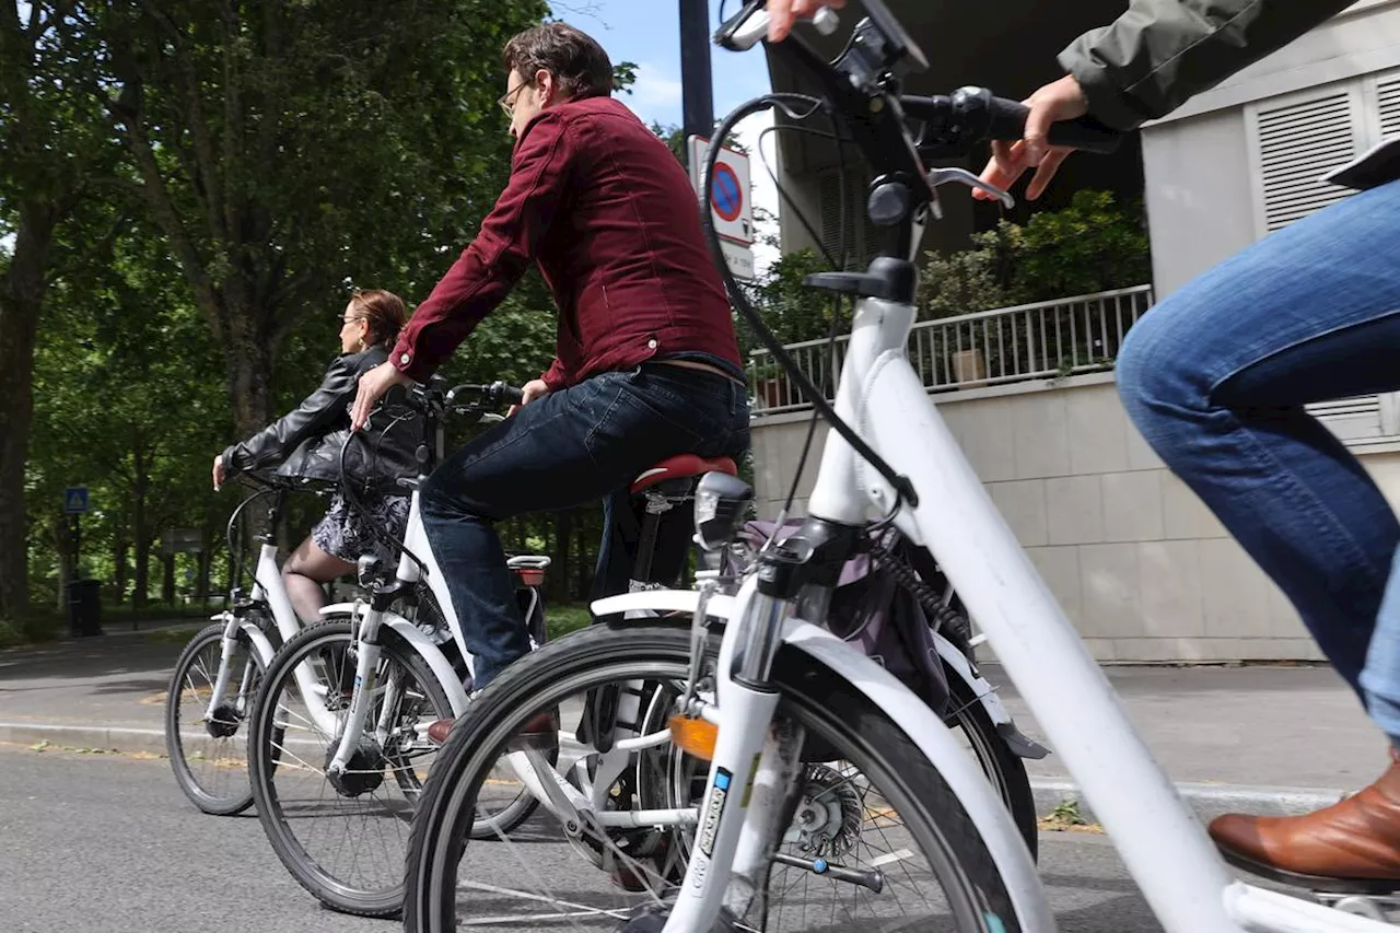
[[[1322,177],[1358,153],[1347,91],[1259,112],[1259,171],[1270,233],[1336,203],[1347,189]]]

